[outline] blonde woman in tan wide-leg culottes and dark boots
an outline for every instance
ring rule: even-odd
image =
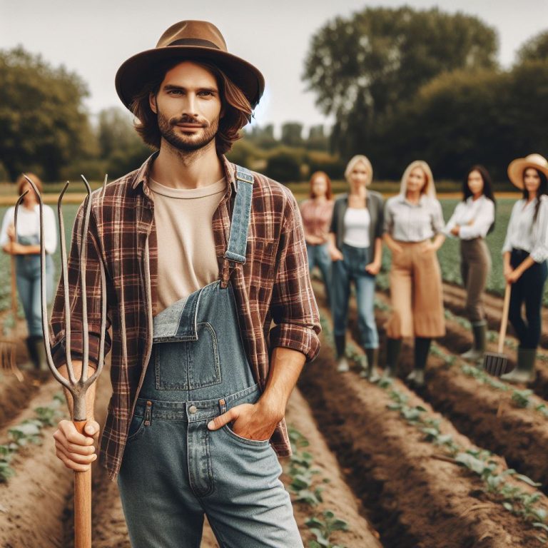
[[[385,375],[395,373],[402,338],[415,338],[415,367],[407,380],[424,384],[432,338],[445,335],[442,277],[437,250],[445,240],[442,206],[430,166],[414,161],[402,176],[400,193],[385,207],[385,243],[392,252]]]

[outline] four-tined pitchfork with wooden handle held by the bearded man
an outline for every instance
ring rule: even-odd
[[[73,424],[76,430],[83,434],[83,428],[86,426],[86,392],[88,388],[97,380],[97,377],[103,370],[105,359],[105,328],[106,328],[106,277],[103,264],[101,269],[101,338],[99,339],[99,355],[97,369],[93,375],[88,378],[89,364],[89,340],[88,333],[88,310],[86,293],[86,237],[88,234],[89,217],[91,213],[91,188],[88,181],[82,175],[84,185],[86,186],[87,196],[83,203],[83,223],[81,230],[81,248],[80,248],[80,291],[82,295],[82,330],[83,330],[83,349],[82,349],[82,370],[78,380],[74,376],[74,369],[71,359],[71,302],[68,295],[68,275],[66,261],[66,242],[64,235],[63,214],[61,211],[61,202],[64,193],[68,187],[65,184],[59,200],[57,201],[57,215],[59,218],[59,242],[61,247],[61,279],[64,289],[64,309],[65,309],[65,338],[66,338],[66,368],[68,379],[59,373],[54,365],[51,355],[51,346],[49,344],[49,325],[46,300],[46,248],[44,245],[44,203],[41,194],[31,179],[25,176],[29,181],[40,208],[40,268],[41,268],[41,305],[42,305],[42,329],[44,331],[44,346],[46,347],[46,359],[56,380],[61,382],[68,392],[71,392],[73,401]],[[106,177],[103,183],[103,191],[106,186]],[[28,192],[28,191],[27,191]],[[21,201],[18,202],[21,203]],[[91,468],[87,472],[74,472],[74,546],[75,548],[91,548]]]

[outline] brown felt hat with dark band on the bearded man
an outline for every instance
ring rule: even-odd
[[[258,68],[229,54],[219,29],[208,21],[181,21],[162,34],[155,49],[148,49],[125,61],[116,73],[116,91],[127,108],[141,91],[151,69],[162,61],[207,61],[218,66],[240,88],[252,106],[265,89]]]

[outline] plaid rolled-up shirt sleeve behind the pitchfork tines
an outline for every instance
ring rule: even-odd
[[[83,207],[76,213],[74,220],[71,250],[67,260],[68,298],[71,303],[71,330],[70,348],[67,345],[65,299],[63,278],[59,281],[54,308],[51,313],[50,323],[50,344],[51,354],[56,367],[66,363],[66,354],[69,351],[72,360],[83,358],[83,338],[87,337],[89,345],[89,364],[96,367],[98,364],[99,347],[101,341],[101,258],[98,254],[93,217],[90,219],[89,230],[86,235],[86,265],[82,271],[86,274],[87,293],[87,319],[88,330],[83,330],[83,295],[81,290],[81,265],[80,248],[82,245],[81,227],[83,223]],[[108,303],[108,298],[107,298]],[[108,335],[108,328],[111,325],[107,314],[106,329],[103,333],[105,338],[105,355],[111,348],[111,338]]]

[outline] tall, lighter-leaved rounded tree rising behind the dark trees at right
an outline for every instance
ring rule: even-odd
[[[497,35],[480,19],[367,8],[338,17],[312,38],[303,78],[325,114],[335,115],[333,147],[362,153],[385,117],[445,71],[494,68]]]

